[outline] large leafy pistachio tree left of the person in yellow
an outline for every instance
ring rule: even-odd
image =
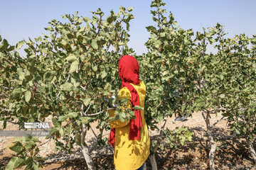
[[[130,11],[132,8],[121,6],[118,13],[110,11],[107,17],[100,8],[92,12],[91,18],[78,16],[78,12],[67,14],[63,16],[65,23],[53,19],[45,28],[48,33],[34,41],[29,38],[11,46],[2,40],[0,117],[4,128],[6,121],[14,118],[22,129],[24,122],[41,122],[52,115],[48,137],[55,140],[56,149],[70,152],[76,142],[88,169],[95,169],[90,153],[98,143],[104,143],[103,130],[110,129],[105,99],[120,86],[114,81],[119,58],[132,52],[127,47],[129,21],[134,18]],[[26,57],[17,52],[23,45]],[[95,121],[100,134],[89,146],[85,136]],[[7,169],[16,167],[10,165],[14,159]],[[33,166],[27,162],[18,166],[38,169],[36,162],[33,159]]]

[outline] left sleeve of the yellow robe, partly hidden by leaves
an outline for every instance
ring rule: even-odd
[[[128,99],[127,108],[131,108],[131,105],[130,105],[131,93],[129,92],[127,87],[124,87],[119,91],[118,98],[119,98],[119,100],[121,100],[122,98],[127,98]],[[108,111],[108,113],[109,113],[109,118],[114,117],[114,110],[110,110],[110,111]],[[122,128],[125,125],[128,125],[129,122],[130,122],[130,120],[128,120],[127,122],[126,121],[122,122],[121,120],[118,119],[115,121],[111,121],[110,127],[111,128]]]

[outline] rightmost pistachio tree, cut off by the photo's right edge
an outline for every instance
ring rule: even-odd
[[[247,142],[250,154],[256,163],[256,153],[252,145],[256,134],[255,115],[255,35],[235,35],[235,38],[219,36],[218,50],[228,60],[223,63],[225,72],[220,74],[223,88],[219,109],[228,118],[231,132]]]

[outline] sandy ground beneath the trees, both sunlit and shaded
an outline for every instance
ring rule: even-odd
[[[222,115],[211,115],[210,124],[217,122]],[[169,118],[166,128],[174,130],[176,127],[186,126],[193,132],[193,141],[186,142],[184,146],[178,146],[178,149],[166,147],[164,150],[158,149],[156,152],[156,162],[159,169],[208,169],[208,142],[206,135],[206,123],[201,113],[194,113],[192,117],[185,121],[175,121],[175,118]],[[46,121],[50,121],[49,116]],[[97,123],[92,123],[95,129]],[[158,125],[160,127],[160,125]],[[2,128],[2,124],[0,124]],[[7,129],[17,130],[18,126],[7,123]],[[95,133],[98,134],[97,129]],[[244,140],[237,140],[235,135],[230,134],[225,119],[220,120],[213,128],[218,149],[215,152],[216,169],[256,169],[252,159],[247,151]],[[103,132],[103,137],[108,137],[109,132]],[[154,137],[159,135],[157,130],[149,130],[149,135]],[[68,154],[65,151],[56,152],[54,140],[46,140],[39,137],[41,142],[46,144],[40,147],[40,156],[45,157],[46,163],[41,169],[85,169],[86,163],[78,146],[75,146],[73,152]],[[95,140],[92,130],[87,133],[86,142],[88,145]],[[0,169],[9,162],[14,155],[8,147],[14,142],[14,137],[0,137]],[[64,141],[63,141],[64,142]],[[254,147],[255,143],[254,143]],[[97,169],[114,169],[113,149],[110,145],[106,147],[97,147],[92,152],[92,159]],[[147,169],[151,169],[150,162],[147,160]]]

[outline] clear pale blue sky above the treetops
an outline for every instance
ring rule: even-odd
[[[220,23],[225,26],[229,37],[245,33],[256,34],[256,1],[254,0],[164,0],[167,11],[174,13],[178,25],[183,29],[192,28],[202,31],[202,28]],[[92,16],[90,11],[101,8],[105,15],[110,10],[119,11],[119,6],[134,7],[135,16],[131,21],[129,47],[137,54],[146,52],[144,43],[149,38],[146,26],[154,26],[150,14],[151,1],[147,0],[1,0],[0,33],[2,38],[12,45],[20,40],[38,37],[47,33],[44,27],[53,18],[62,20],[61,15],[79,11],[80,16]]]

